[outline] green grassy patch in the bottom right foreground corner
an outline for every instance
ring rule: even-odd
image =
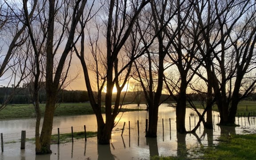
[[[201,147],[194,152],[205,160],[254,160],[256,155],[256,134],[221,136],[216,146]],[[194,159],[190,157],[191,159]],[[188,157],[153,156],[151,160],[184,160]]]

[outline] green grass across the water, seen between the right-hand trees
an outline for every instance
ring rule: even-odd
[[[196,108],[203,108],[203,106],[200,104],[200,102],[194,102],[194,104],[196,105]],[[189,104],[188,104],[188,106],[189,106]],[[219,112],[216,104],[213,105],[212,110]],[[245,114],[245,116],[248,116],[249,112],[255,113],[255,115],[256,115],[256,101],[241,101],[237,106],[236,115],[244,116],[244,114]]]

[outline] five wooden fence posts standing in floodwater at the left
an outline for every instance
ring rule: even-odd
[[[129,126],[130,126],[130,123],[129,123]],[[71,136],[72,136],[72,143],[73,143],[74,142],[73,127],[71,127]],[[87,134],[86,134],[86,127],[85,127],[85,125],[84,125],[84,140],[87,141]],[[25,149],[25,144],[26,144],[26,131],[21,131],[20,149]],[[58,128],[57,144],[60,144],[60,128]],[[2,150],[2,152],[4,152],[3,133],[1,133],[1,150]]]

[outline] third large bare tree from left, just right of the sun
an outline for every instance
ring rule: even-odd
[[[186,11],[189,10],[189,8],[191,8],[191,4],[186,0],[182,0],[181,2],[179,0],[165,0],[163,2],[158,0],[151,1],[152,16],[148,16],[151,19],[148,19],[145,24],[152,24],[150,29],[152,29],[153,32],[149,32],[148,35],[151,35],[152,39],[156,36],[157,40],[146,50],[145,57],[142,57],[147,59],[146,65],[143,66],[143,63],[136,62],[137,74],[148,102],[149,124],[146,136],[149,137],[156,137],[158,108],[162,103],[160,98],[164,85],[164,71],[172,65],[166,63],[165,58],[173,40],[178,32],[181,32],[183,27],[182,25],[178,25],[178,27],[174,27],[175,29],[173,30],[170,30],[170,28],[172,28],[171,26],[173,25],[175,15],[181,10],[184,11],[186,15]],[[140,24],[138,23],[138,25]],[[147,36],[143,32],[140,32],[140,34],[143,44],[150,44],[151,40],[148,40],[150,36]]]

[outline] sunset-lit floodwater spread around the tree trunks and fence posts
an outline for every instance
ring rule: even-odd
[[[136,105],[124,107],[137,108]],[[140,108],[144,109],[146,106],[142,105]],[[213,112],[213,115],[214,123],[217,124],[218,112]],[[3,133],[4,152],[0,153],[0,160],[148,160],[154,155],[198,157],[200,155],[193,155],[191,151],[200,145],[217,144],[220,135],[255,132],[254,118],[248,120],[237,117],[236,123],[240,124],[240,127],[220,128],[214,125],[213,130],[204,130],[201,125],[196,134],[177,134],[175,108],[162,104],[159,108],[157,138],[146,138],[144,135],[147,118],[146,111],[120,113],[116,118],[118,123],[113,129],[110,145],[98,145],[96,137],[93,137],[88,138],[87,142],[74,140],[74,143],[52,144],[52,154],[39,156],[35,155],[35,144],[26,142],[26,148],[21,150],[19,142],[22,130],[26,130],[27,138],[34,137],[35,119],[1,120],[0,132]],[[193,129],[198,119],[194,111],[187,109],[186,129]],[[84,125],[87,131],[96,131],[96,117],[94,115],[59,116],[54,118],[52,133],[56,134],[57,128],[60,128],[60,133],[71,132],[71,126],[74,132],[83,131]],[[121,136],[123,126],[124,132]]]

